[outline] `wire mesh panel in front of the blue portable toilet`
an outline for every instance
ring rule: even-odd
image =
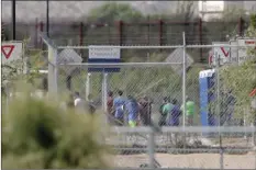
[[[194,45],[194,48],[187,48],[186,52],[192,54],[193,49],[200,48]],[[251,69],[243,72],[243,67],[231,59],[232,48],[224,44],[212,48],[202,46],[201,49],[213,52],[212,58],[205,56],[210,65],[193,64],[187,70],[186,94],[194,104],[196,114],[192,118],[194,125],[248,126],[254,123],[247,91],[252,88],[238,79],[247,75],[247,81],[254,81],[255,72]],[[212,65],[213,61],[215,65]]]

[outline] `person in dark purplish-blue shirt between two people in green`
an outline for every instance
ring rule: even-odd
[[[176,99],[172,99],[171,104],[172,104],[172,109],[168,113],[167,125],[179,126],[179,118],[181,115],[181,110]]]

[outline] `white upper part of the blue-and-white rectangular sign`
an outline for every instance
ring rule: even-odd
[[[89,46],[89,58],[90,59],[120,59],[120,48],[99,46]]]

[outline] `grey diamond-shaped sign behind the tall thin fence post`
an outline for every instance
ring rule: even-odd
[[[192,57],[186,53],[186,58],[187,58],[187,68],[189,68],[193,64]],[[166,63],[183,63],[183,48],[177,48],[175,49],[165,60]],[[177,73],[182,73],[182,65],[170,65],[174,71]]]

